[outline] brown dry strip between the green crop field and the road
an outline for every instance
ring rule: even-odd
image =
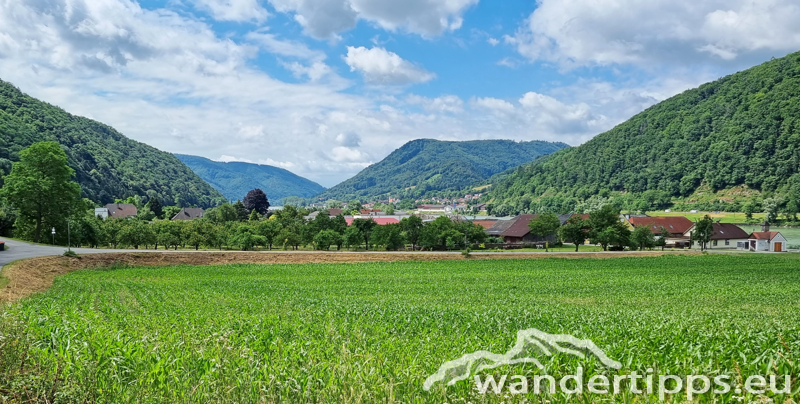
[[[354,252],[125,252],[87,254],[80,258],[46,256],[16,261],[3,268],[9,282],[0,290],[0,302],[15,302],[34,293],[47,290],[56,276],[87,268],[114,265],[168,266],[220,265],[233,263],[302,264],[373,261],[435,261],[464,259],[525,259],[525,258],[619,258],[676,254],[671,252],[616,253],[473,253],[464,258],[460,253],[354,253]],[[683,253],[693,254],[693,253]]]

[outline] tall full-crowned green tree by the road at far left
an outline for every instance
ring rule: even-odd
[[[67,165],[67,155],[56,142],[34,143],[19,153],[0,190],[19,216],[35,226],[33,241],[42,238],[43,224],[67,220],[80,201],[80,186]]]

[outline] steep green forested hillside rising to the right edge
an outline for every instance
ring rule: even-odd
[[[800,52],[665,100],[494,184],[496,213],[570,211],[592,195],[685,198],[737,186],[798,198]],[[744,187],[746,186],[746,187]]]

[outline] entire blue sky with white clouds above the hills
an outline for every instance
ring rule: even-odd
[[[331,187],[404,143],[576,146],[800,50],[797,0],[0,0],[0,79]]]

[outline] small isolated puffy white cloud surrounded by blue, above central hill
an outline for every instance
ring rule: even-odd
[[[344,61],[351,71],[364,75],[371,84],[404,85],[424,83],[436,77],[435,74],[415,66],[394,52],[383,48],[367,49],[348,46]]]

